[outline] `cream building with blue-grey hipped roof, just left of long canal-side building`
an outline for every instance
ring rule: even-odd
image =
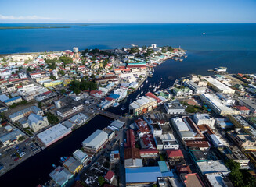
[[[42,117],[41,115],[31,114],[27,118],[28,126],[34,131],[38,132],[49,125],[47,117]]]

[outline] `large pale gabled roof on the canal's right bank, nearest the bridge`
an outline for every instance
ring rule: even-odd
[[[88,136],[87,139],[85,139],[82,144],[85,146],[92,146],[96,149],[101,146],[106,139],[108,139],[108,134],[102,130],[96,130],[96,132],[93,132],[91,136]]]

